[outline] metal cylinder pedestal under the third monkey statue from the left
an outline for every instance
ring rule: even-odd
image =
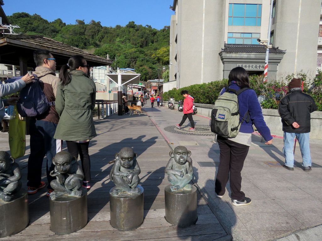
[[[144,190],[140,185],[137,188],[141,189],[141,194],[132,194],[133,197],[115,197],[111,194],[113,188],[109,191],[110,223],[113,228],[131,230],[143,223]]]

